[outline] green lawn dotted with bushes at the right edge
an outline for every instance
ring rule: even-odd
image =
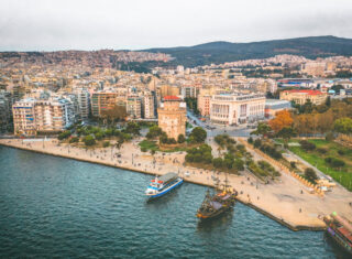
[[[352,150],[324,139],[309,139],[308,141],[315,143],[317,149],[314,151],[305,151],[300,147],[289,147],[289,150],[319,169],[324,174],[333,177],[349,191],[352,191]],[[290,142],[299,142],[299,140],[292,140]],[[319,148],[324,148],[327,153],[319,153]],[[343,154],[341,154],[341,151]],[[345,165],[342,169],[334,169],[324,161],[327,157],[343,160]]]

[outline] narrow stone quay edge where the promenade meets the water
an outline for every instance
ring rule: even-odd
[[[132,171],[132,172],[136,172],[136,173],[144,173],[144,174],[151,174],[151,175],[155,175],[156,173],[155,172],[150,172],[147,170],[143,171],[142,169],[139,170],[139,169],[134,169],[132,166],[123,166],[123,165],[120,165],[119,163],[109,163],[109,162],[105,162],[105,161],[94,161],[92,159],[85,159],[85,158],[77,158],[77,157],[74,157],[74,155],[68,155],[68,154],[61,154],[61,153],[55,153],[55,152],[50,152],[50,151],[45,151],[45,150],[37,150],[37,149],[33,149],[33,148],[29,148],[29,147],[18,147],[18,145],[14,145],[12,143],[3,143],[3,142],[0,142],[0,145],[3,145],[3,147],[8,147],[8,148],[13,148],[13,149],[20,149],[20,150],[25,150],[25,151],[30,151],[30,152],[35,152],[35,153],[41,153],[41,154],[46,154],[46,155],[53,155],[53,157],[58,157],[58,158],[63,158],[63,159],[73,159],[73,160],[76,160],[76,161],[81,161],[81,162],[88,162],[88,163],[95,163],[95,164],[100,164],[100,165],[106,165],[106,166],[110,166],[110,168],[118,168],[118,169],[122,169],[122,170],[128,170],[128,171]],[[195,181],[195,180],[191,180],[189,177],[184,177],[184,181],[185,182],[188,182],[188,183],[193,183],[193,184],[198,184],[198,185],[202,185],[202,186],[211,186],[211,184],[207,184],[205,182],[199,182],[199,181]],[[294,231],[298,231],[298,230],[312,230],[312,231],[322,231],[322,230],[326,230],[326,226],[312,226],[312,225],[295,225],[295,224],[292,224],[287,220],[285,220],[284,218],[279,218],[277,216],[275,216],[274,214],[270,213],[266,209],[263,209],[261,208],[260,206],[256,206],[255,204],[251,203],[251,202],[246,202],[245,198],[241,198],[241,197],[237,197],[238,202],[255,209],[256,212],[263,214],[264,216],[279,223],[280,225],[289,228],[290,230],[294,230]]]

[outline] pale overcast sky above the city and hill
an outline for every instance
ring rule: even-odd
[[[1,0],[0,51],[352,39],[352,0]]]

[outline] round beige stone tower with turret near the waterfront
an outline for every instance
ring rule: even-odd
[[[177,140],[179,134],[186,136],[186,104],[176,96],[165,96],[157,109],[158,127],[168,138]]]

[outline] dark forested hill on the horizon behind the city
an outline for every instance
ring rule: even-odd
[[[210,42],[195,46],[143,50],[162,52],[176,57],[168,65],[194,67],[251,58],[266,58],[279,54],[301,55],[317,58],[352,55],[352,39],[337,36],[309,36],[251,43]]]

